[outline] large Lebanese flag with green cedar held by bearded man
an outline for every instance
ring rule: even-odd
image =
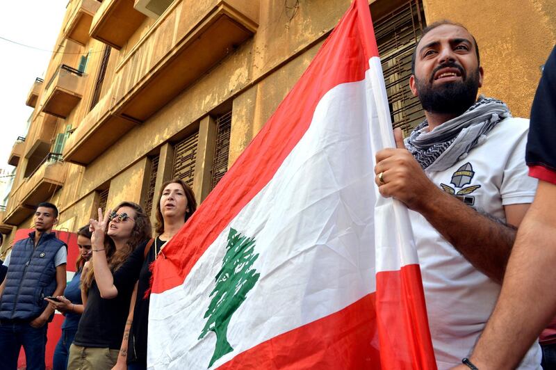
[[[368,2],[154,265],[149,369],[436,369]]]

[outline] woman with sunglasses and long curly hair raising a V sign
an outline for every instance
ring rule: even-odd
[[[133,202],[120,203],[104,217],[99,209],[99,219],[90,220],[90,228],[92,261],[81,289],[85,311],[70,347],[68,369],[111,369],[116,364],[135,284],[122,265],[152,235],[149,218]],[[97,269],[109,271],[120,291],[116,298],[99,290]]]

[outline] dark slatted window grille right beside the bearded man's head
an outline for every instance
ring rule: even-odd
[[[411,94],[411,57],[425,28],[422,0],[411,0],[374,22],[393,127],[407,135],[425,115]]]

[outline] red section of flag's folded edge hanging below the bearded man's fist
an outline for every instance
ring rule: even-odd
[[[377,273],[383,369],[436,369],[419,265]]]

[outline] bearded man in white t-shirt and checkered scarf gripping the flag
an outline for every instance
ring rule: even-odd
[[[409,81],[425,121],[377,153],[375,182],[410,209],[439,369],[466,358],[500,293],[516,227],[537,181],[523,157],[528,120],[479,97],[483,69],[473,35],[437,22],[423,31]],[[539,369],[533,346],[521,369]]]

